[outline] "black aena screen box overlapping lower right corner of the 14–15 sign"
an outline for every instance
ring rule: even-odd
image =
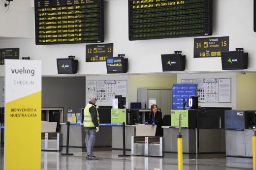
[[[222,52],[222,69],[239,70],[248,68],[248,53],[244,51]]]

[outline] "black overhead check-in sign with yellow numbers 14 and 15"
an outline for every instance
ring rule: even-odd
[[[221,57],[229,51],[229,36],[194,38],[194,58]]]

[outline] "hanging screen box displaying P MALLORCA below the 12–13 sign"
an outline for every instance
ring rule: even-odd
[[[108,57],[106,59],[107,73],[127,73],[128,58]]]

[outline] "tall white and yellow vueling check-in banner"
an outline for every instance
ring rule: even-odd
[[[41,61],[4,63],[4,170],[40,170]]]

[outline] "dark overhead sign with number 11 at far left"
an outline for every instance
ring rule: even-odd
[[[0,65],[4,65],[4,59],[19,59],[20,48],[0,49]]]

